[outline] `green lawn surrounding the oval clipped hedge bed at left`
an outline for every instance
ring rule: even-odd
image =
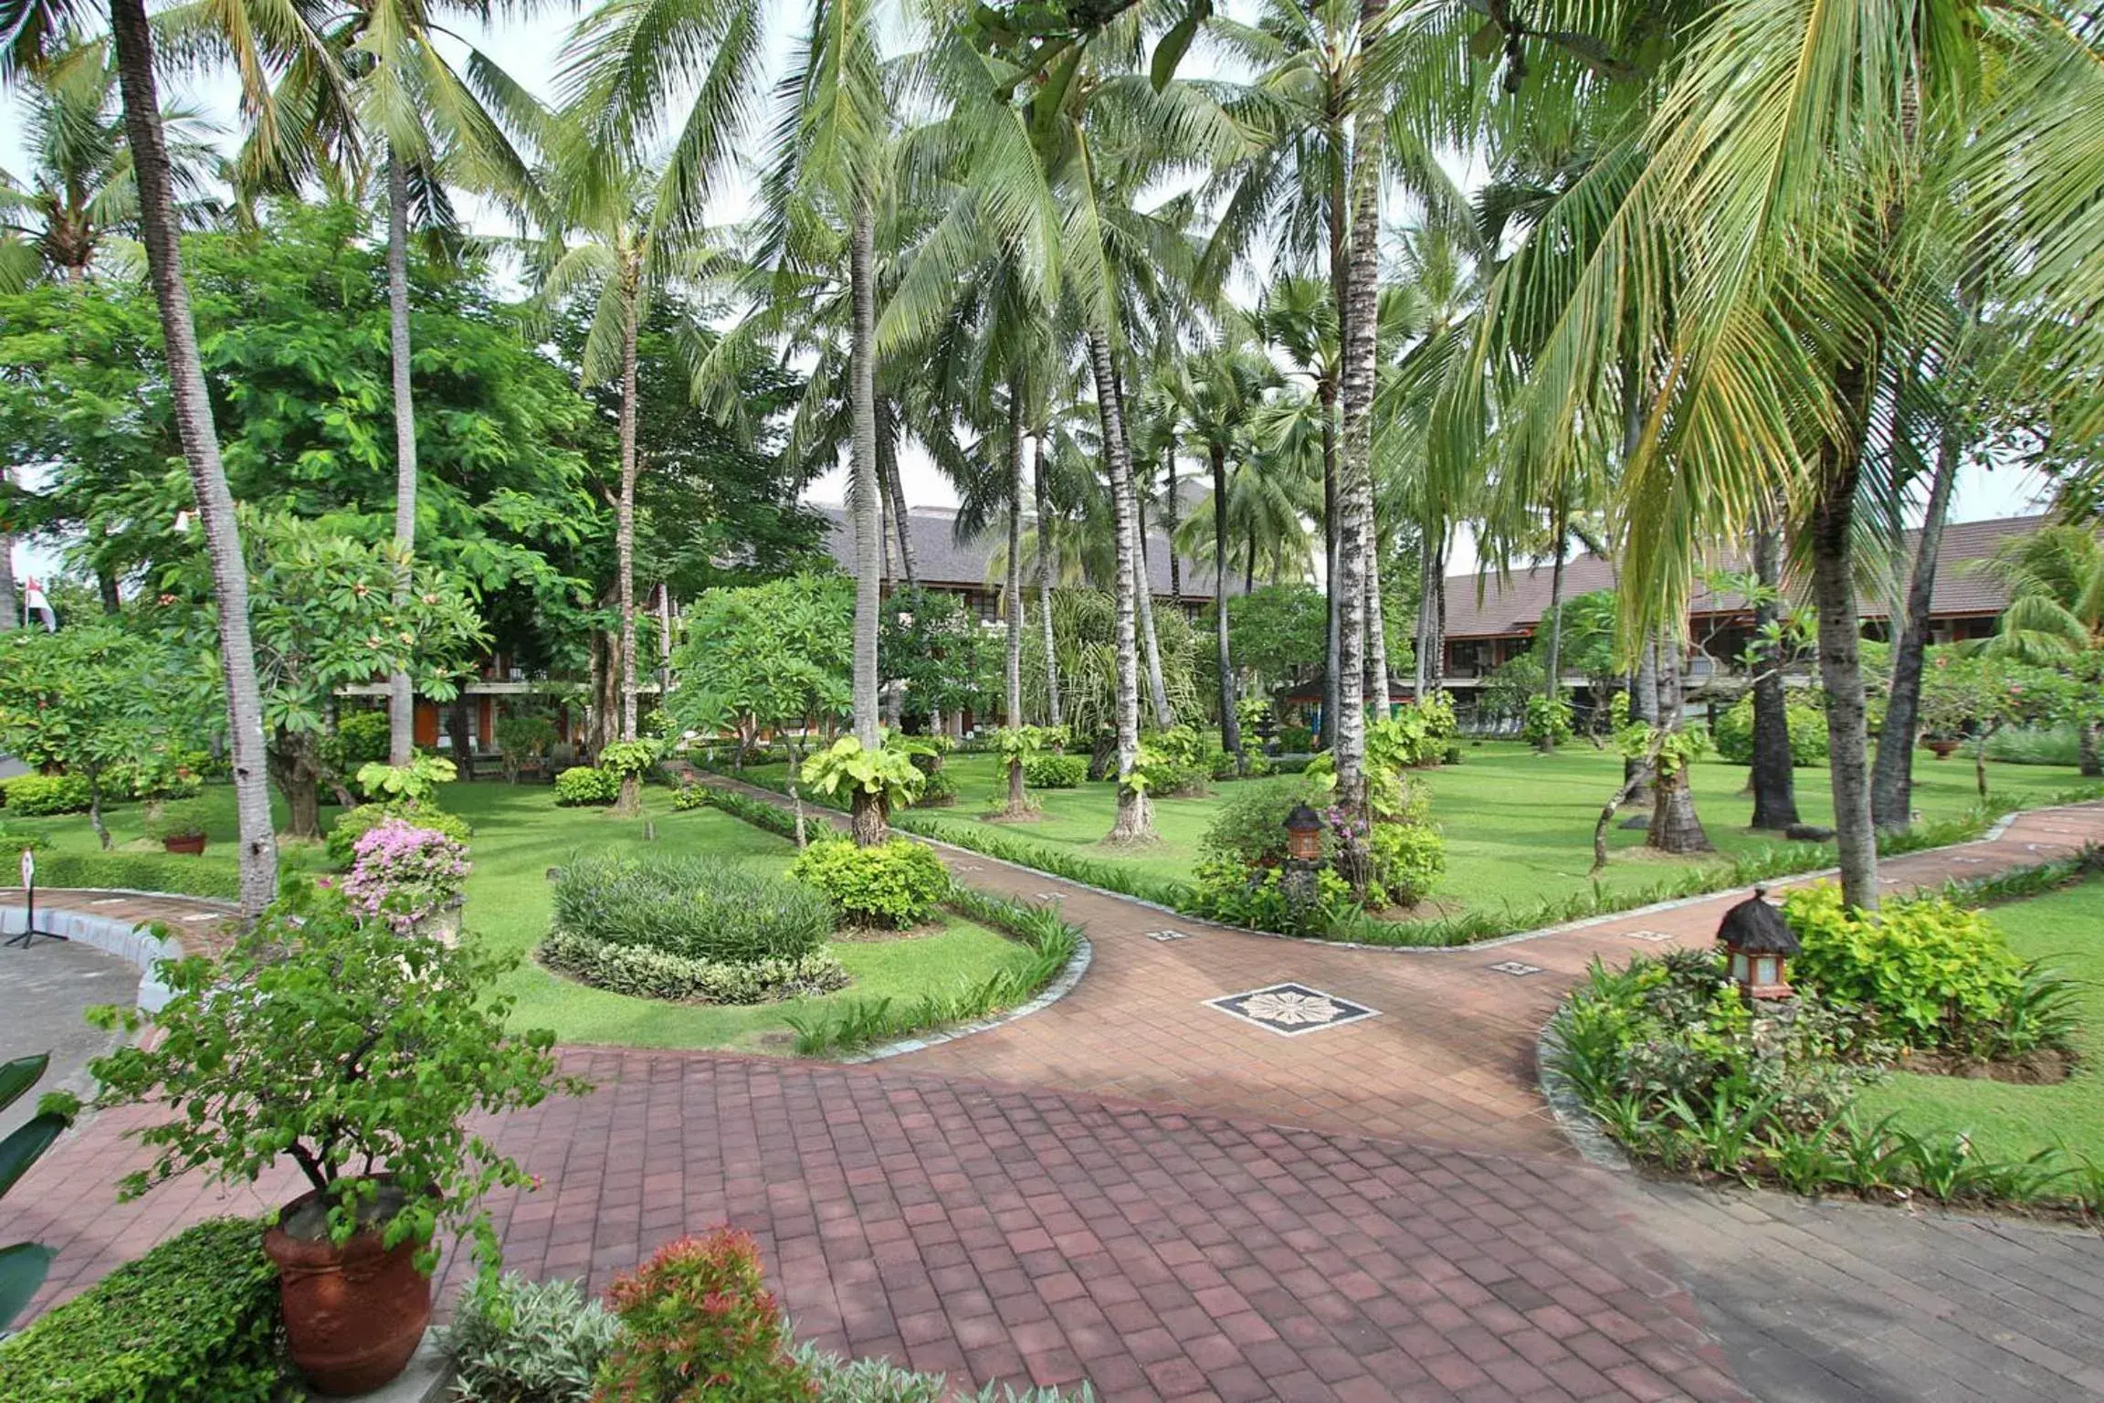
[[[606,810],[555,808],[545,785],[448,785],[440,804],[476,825],[473,873],[467,877],[463,923],[476,936],[503,951],[530,951],[547,932],[549,881],[547,869],[562,867],[581,850],[659,850],[699,852],[753,867],[787,869],[793,848],[787,839],[764,833],[720,810],[699,808],[671,812],[665,789],[644,791],[640,818],[616,818]],[[213,785],[204,795],[208,848],[196,862],[234,867],[234,791]],[[324,825],[335,810],[322,810]],[[282,820],[280,810],[280,820]],[[644,839],[644,822],[656,825],[656,841]],[[137,843],[158,852],[158,843],[141,837],[141,806],[128,804],[107,814],[118,846]],[[86,814],[63,818],[8,818],[11,831],[38,833],[55,850],[95,852],[95,833]],[[292,848],[292,867],[320,869],[318,846]],[[1029,961],[1029,951],[983,926],[945,917],[943,930],[892,940],[846,940],[835,947],[854,982],[821,999],[791,999],[741,1008],[701,1008],[656,1003],[627,995],[587,989],[555,978],[526,961],[505,980],[505,993],[518,997],[522,1026],[555,1029],[568,1043],[621,1043],[633,1048],[745,1048],[789,1050],[787,1016],[842,999],[911,997],[930,989],[980,982],[1008,963]]]

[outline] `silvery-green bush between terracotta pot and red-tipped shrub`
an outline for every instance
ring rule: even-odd
[[[457,1403],[591,1403],[621,1323],[574,1281],[482,1275],[461,1292],[446,1348]]]

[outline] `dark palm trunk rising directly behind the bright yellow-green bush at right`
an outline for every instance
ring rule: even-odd
[[[1835,402],[1854,414],[1847,440],[1820,448],[1818,496],[1812,503],[1812,602],[1820,612],[1820,682],[1826,688],[1826,764],[1835,795],[1835,841],[1841,848],[1841,898],[1877,909],[1877,831],[1870,822],[1870,755],[1864,730],[1862,648],[1849,532],[1862,475],[1864,406],[1870,368],[1843,360],[1835,370]]]

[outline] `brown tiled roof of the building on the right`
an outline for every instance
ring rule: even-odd
[[[2047,524],[2043,515],[1995,517],[1990,522],[1950,522],[1936,551],[1936,593],[1931,614],[1999,614],[2009,595],[2001,583],[1980,568],[2009,536],[2024,536]],[[1910,557],[1919,532],[1902,538],[1902,557]],[[1744,555],[1727,551],[1719,560],[1725,570],[1744,570]],[[1549,608],[1549,564],[1523,566],[1504,581],[1494,574],[1450,574],[1448,637],[1511,637],[1532,633]],[[1572,599],[1595,589],[1614,589],[1614,566],[1601,555],[1576,555],[1563,564],[1563,597]],[[1687,604],[1692,614],[1715,614],[1744,608],[1736,595],[1715,595],[1700,585]],[[1885,618],[1889,602],[1864,593],[1862,616]]]

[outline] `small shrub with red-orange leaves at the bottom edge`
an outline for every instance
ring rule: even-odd
[[[621,1344],[600,1403],[808,1403],[818,1382],[789,1357],[789,1331],[760,1275],[760,1245],[715,1228],[667,1243],[608,1294]]]

